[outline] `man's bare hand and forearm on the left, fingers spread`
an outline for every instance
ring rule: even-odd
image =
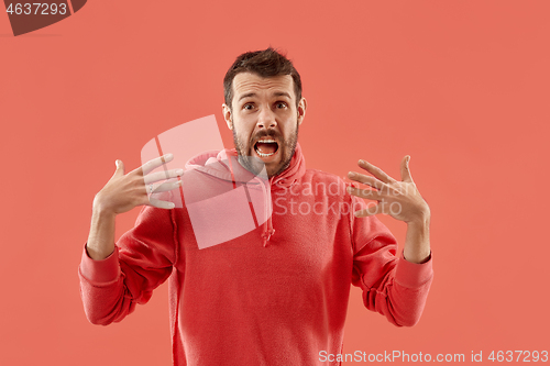
[[[86,243],[88,255],[92,259],[105,259],[114,251],[114,218],[119,213],[147,204],[161,209],[173,209],[174,203],[161,201],[151,193],[173,190],[180,180],[174,179],[184,174],[183,169],[173,169],[150,174],[160,166],[174,159],[172,154],[154,158],[141,167],[124,174],[124,164],[117,160],[117,170],[107,185],[94,199],[91,226]],[[162,184],[160,180],[168,179]]]

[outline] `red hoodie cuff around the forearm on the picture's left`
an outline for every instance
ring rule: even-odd
[[[118,246],[114,245],[114,251],[107,258],[96,260],[88,255],[85,244],[80,260],[80,273],[86,279],[95,284],[107,284],[117,280],[120,276]]]

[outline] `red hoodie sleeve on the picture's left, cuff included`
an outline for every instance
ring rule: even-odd
[[[85,246],[78,275],[80,297],[91,323],[121,321],[136,303],[147,302],[153,290],[169,277],[176,260],[172,211],[144,207],[135,226],[102,260],[89,257]]]

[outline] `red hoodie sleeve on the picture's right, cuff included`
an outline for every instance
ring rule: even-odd
[[[418,323],[433,277],[431,255],[422,264],[406,260],[403,252],[397,256],[395,237],[376,217],[355,218],[352,212],[351,228],[352,284],[363,290],[365,307],[397,326]]]

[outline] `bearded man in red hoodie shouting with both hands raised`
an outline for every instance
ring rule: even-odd
[[[418,322],[432,279],[430,210],[413,182],[408,156],[400,181],[361,160],[374,177],[349,177],[374,190],[306,169],[297,143],[307,110],[300,77],[272,48],[240,55],[224,91],[235,149],[202,154],[189,165],[213,184],[265,167],[273,213],[241,236],[199,249],[188,207],[175,209],[147,195],[165,178],[147,173],[172,157],[125,175],[117,160],[95,198],[79,267],[90,322],[121,321],[168,277],[174,365],[338,365],[322,355],[342,351],[351,284],[363,290],[367,309],[393,324]],[[227,164],[231,158],[239,163]],[[367,209],[361,198],[378,203]],[[116,215],[139,204],[144,208],[135,228],[114,245]],[[403,254],[377,213],[407,222]]]

